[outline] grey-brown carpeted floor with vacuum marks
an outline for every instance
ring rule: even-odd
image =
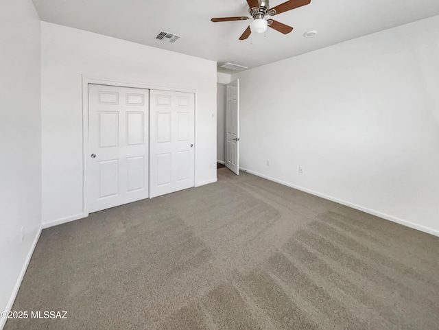
[[[228,169],[45,229],[5,329],[439,329],[439,238]]]

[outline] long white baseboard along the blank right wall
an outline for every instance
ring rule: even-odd
[[[340,200],[339,198],[328,196],[328,195],[325,195],[324,193],[319,193],[318,191],[313,191],[311,189],[307,189],[307,188],[300,187],[300,186],[297,186],[297,185],[292,185],[289,182],[285,182],[283,180],[278,180],[278,179],[272,178],[270,176],[265,176],[263,174],[260,174],[260,173],[257,173],[257,172],[253,172],[250,169],[245,169],[245,168],[242,168],[242,167],[239,167],[239,169],[241,171],[248,172],[248,173],[253,174],[255,176],[259,176],[261,178],[265,178],[267,180],[280,183],[281,185],[285,185],[287,187],[294,188],[294,189],[297,189],[297,190],[300,190],[300,191],[304,191],[305,193],[310,193],[311,195],[324,198],[325,200],[331,200],[332,202],[336,202],[338,204],[342,204],[342,205],[344,205],[346,207],[352,207],[353,209],[356,209],[356,210],[359,210],[359,211],[363,211],[365,213],[369,213],[369,214],[375,215],[377,217],[382,217],[385,220],[396,222],[396,224],[402,224],[403,226],[410,227],[410,228],[416,229],[418,231],[423,231],[424,233],[431,234],[431,235],[439,237],[439,231],[436,231],[436,229],[425,227],[425,226],[421,226],[420,224],[414,224],[413,222],[410,222],[410,221],[407,221],[407,220],[403,220],[403,219],[400,219],[399,217],[394,217],[392,215],[388,215],[388,214],[385,214],[385,213],[381,213],[379,211],[368,209],[367,207],[361,207],[360,205],[353,204],[351,202],[347,202],[346,200]]]

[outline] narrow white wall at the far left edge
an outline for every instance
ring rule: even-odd
[[[41,225],[40,19],[31,0],[0,2],[0,40],[0,311],[5,311]],[[0,318],[0,329],[4,322]]]

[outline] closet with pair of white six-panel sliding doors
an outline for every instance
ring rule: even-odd
[[[195,95],[88,84],[90,212],[194,186]]]

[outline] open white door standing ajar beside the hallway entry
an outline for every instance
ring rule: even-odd
[[[239,79],[227,84],[226,167],[239,175]]]

